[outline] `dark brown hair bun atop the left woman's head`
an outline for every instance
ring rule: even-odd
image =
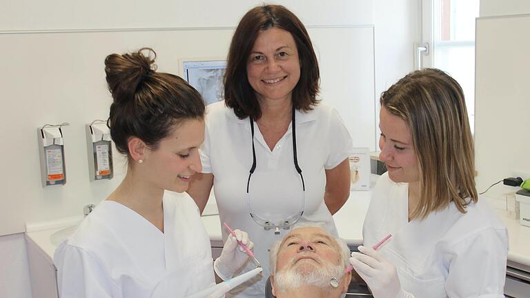
[[[141,48],[130,54],[110,54],[106,57],[106,80],[115,103],[133,100],[139,84],[155,72],[156,57],[157,53],[151,48]]]

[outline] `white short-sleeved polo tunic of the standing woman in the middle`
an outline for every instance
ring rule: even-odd
[[[320,222],[337,235],[333,218],[324,203],[325,170],[349,157],[352,139],[337,111],[320,103],[309,112],[295,112],[297,160],[306,187],[304,215],[300,222]],[[256,169],[251,177],[248,201],[255,215],[277,223],[300,212],[304,195],[302,180],[293,161],[291,126],[275,148],[268,148],[254,122]],[[238,119],[224,101],[208,106],[206,136],[201,148],[203,172],[213,173],[213,189],[221,222],[248,232],[256,258],[264,267],[257,277],[235,288],[226,297],[264,297],[268,271],[268,248],[288,230],[274,235],[253,221],[248,212],[246,186],[253,162],[248,117]],[[228,231],[222,229],[223,239]],[[249,261],[242,272],[253,268]],[[236,295],[236,296],[231,296]]]

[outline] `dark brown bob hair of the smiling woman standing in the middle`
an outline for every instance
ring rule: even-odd
[[[320,70],[304,24],[284,6],[257,6],[244,15],[235,29],[224,74],[224,100],[239,119],[262,116],[255,91],[248,83],[246,64],[259,32],[272,27],[291,33],[298,50],[301,72],[293,90],[294,108],[308,111],[318,103]]]

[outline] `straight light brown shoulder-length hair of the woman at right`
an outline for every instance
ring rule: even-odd
[[[411,72],[381,95],[381,106],[409,125],[420,168],[420,203],[411,219],[451,201],[460,212],[478,201],[475,151],[460,84],[438,69]]]

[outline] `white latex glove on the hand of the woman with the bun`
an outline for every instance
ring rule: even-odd
[[[215,270],[217,276],[221,277],[223,280],[231,278],[248,260],[248,255],[246,255],[243,248],[239,247],[237,241],[241,241],[242,244],[245,244],[250,250],[254,248],[254,244],[248,239],[248,234],[246,232],[235,229],[234,233],[235,237],[231,234],[228,235],[224,242],[221,255],[213,262],[213,270]]]

